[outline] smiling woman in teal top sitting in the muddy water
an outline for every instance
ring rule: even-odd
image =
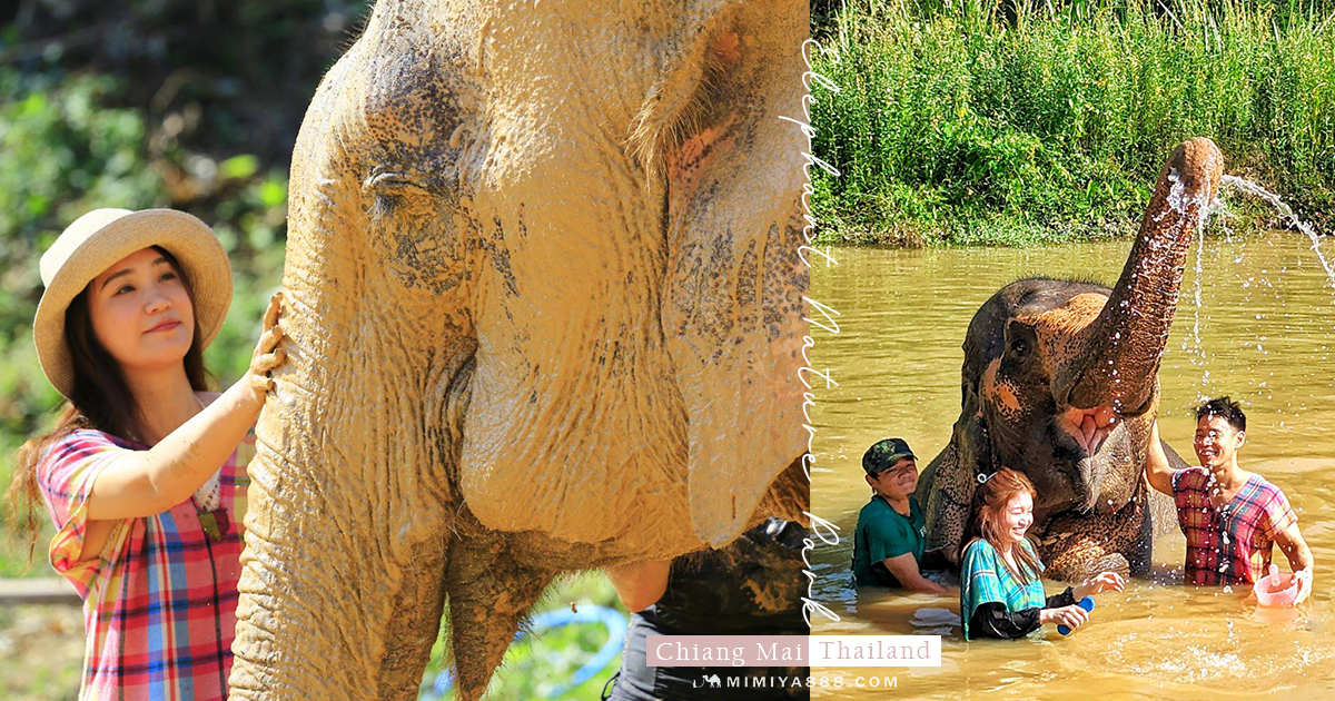
[[[1033,523],[1033,483],[1004,469],[975,491],[960,549],[960,618],[964,640],[1019,638],[1056,622],[1080,628],[1088,613],[1076,601],[1100,592],[1121,592],[1124,582],[1105,571],[1065,592],[1045,596],[1043,562],[1025,531]]]

